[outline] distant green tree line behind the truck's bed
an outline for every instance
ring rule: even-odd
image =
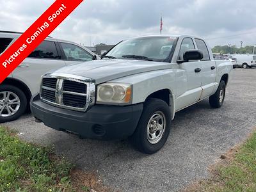
[[[220,46],[217,45],[215,47],[212,48],[212,52],[220,52],[221,54],[252,54],[253,53],[253,46],[246,46],[246,47],[241,47],[241,48],[237,48],[236,45],[232,45],[232,46],[228,46],[228,45],[224,45],[224,46]],[[256,49],[255,49],[255,53],[256,53]]]

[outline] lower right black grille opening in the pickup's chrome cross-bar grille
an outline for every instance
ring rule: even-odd
[[[84,108],[86,105],[86,97],[63,93],[63,104],[74,108]]]

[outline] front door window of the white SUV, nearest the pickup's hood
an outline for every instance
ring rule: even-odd
[[[92,61],[93,55],[76,44],[59,42],[63,59],[67,65]]]

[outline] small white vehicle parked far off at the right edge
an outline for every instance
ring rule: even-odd
[[[249,54],[234,54],[232,60],[236,61],[237,67],[251,68],[256,67],[256,56]]]

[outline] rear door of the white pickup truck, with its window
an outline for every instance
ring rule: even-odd
[[[197,49],[204,53],[204,58],[200,61],[201,63],[201,82],[202,82],[202,95],[200,99],[211,96],[216,86],[216,63],[211,60],[209,50],[204,40],[195,38]]]

